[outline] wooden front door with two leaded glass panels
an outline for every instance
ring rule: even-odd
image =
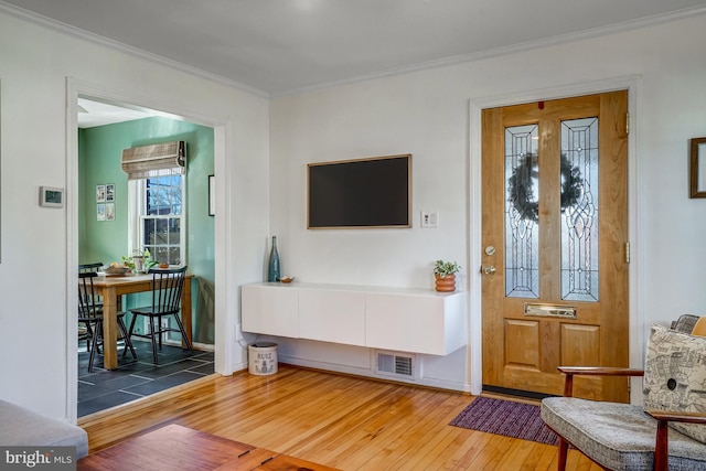
[[[628,93],[482,111],[483,388],[560,395],[628,366]],[[625,378],[580,397],[628,402]]]

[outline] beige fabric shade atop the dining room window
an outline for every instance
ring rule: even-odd
[[[172,141],[133,147],[122,151],[121,167],[128,180],[182,175],[186,165],[186,142]]]

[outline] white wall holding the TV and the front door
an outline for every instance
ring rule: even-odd
[[[687,197],[688,139],[706,136],[704,44],[706,17],[700,15],[272,99],[270,226],[280,236],[282,272],[314,282],[431,287],[432,260],[469,267],[481,249],[469,244],[472,224],[480,224],[469,196],[475,191],[469,149],[477,144],[470,139],[479,137],[470,136],[469,100],[579,85],[590,89],[591,83],[637,76],[630,309],[632,362],[639,366],[650,323],[706,313],[706,201]],[[414,156],[413,228],[307,231],[308,162],[407,152]],[[439,228],[419,228],[422,208],[439,211]],[[475,271],[468,271],[469,286],[479,286]],[[478,325],[480,306],[469,315]],[[331,345],[282,343],[282,353],[301,364],[331,357]],[[480,352],[480,345],[471,347]],[[346,352],[332,367],[364,370],[364,357]],[[430,375],[443,376],[451,387],[473,373],[468,355],[425,358],[427,364]]]

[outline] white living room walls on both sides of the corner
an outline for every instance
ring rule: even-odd
[[[687,141],[706,136],[706,17],[485,61],[264,98],[175,72],[0,13],[1,263],[0,397],[73,420],[73,342],[66,332],[75,265],[76,189],[67,139],[69,92],[103,89],[216,126],[216,347],[223,373],[243,365],[233,342],[238,287],[264,277],[268,235],[279,236],[282,270],[306,281],[431,287],[437,258],[469,266],[480,216],[469,199],[469,99],[532,94],[639,75],[632,172],[638,185],[632,279],[633,329],[706,312],[706,201],[687,199]],[[86,85],[90,84],[90,85]],[[69,104],[71,105],[71,104]],[[268,116],[269,114],[269,116]],[[307,231],[306,163],[414,154],[411,229]],[[271,157],[268,161],[268,153]],[[38,205],[40,185],[65,186],[64,210]],[[271,186],[271,191],[270,191]],[[74,197],[75,199],[75,197]],[[421,208],[440,227],[420,229]],[[73,212],[73,213],[72,213]],[[268,212],[271,215],[268,221]],[[271,226],[271,227],[270,227]],[[469,270],[469,285],[477,277]],[[475,293],[471,292],[471,297]],[[478,320],[480,311],[469,313]],[[301,363],[364,370],[366,351],[284,343]],[[472,345],[477,347],[478,345]],[[425,358],[435,384],[468,385],[470,358]],[[75,372],[74,372],[75,374]]]

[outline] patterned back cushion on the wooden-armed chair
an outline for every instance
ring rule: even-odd
[[[706,413],[706,338],[652,325],[644,368],[644,408]],[[706,426],[670,426],[706,443]]]

